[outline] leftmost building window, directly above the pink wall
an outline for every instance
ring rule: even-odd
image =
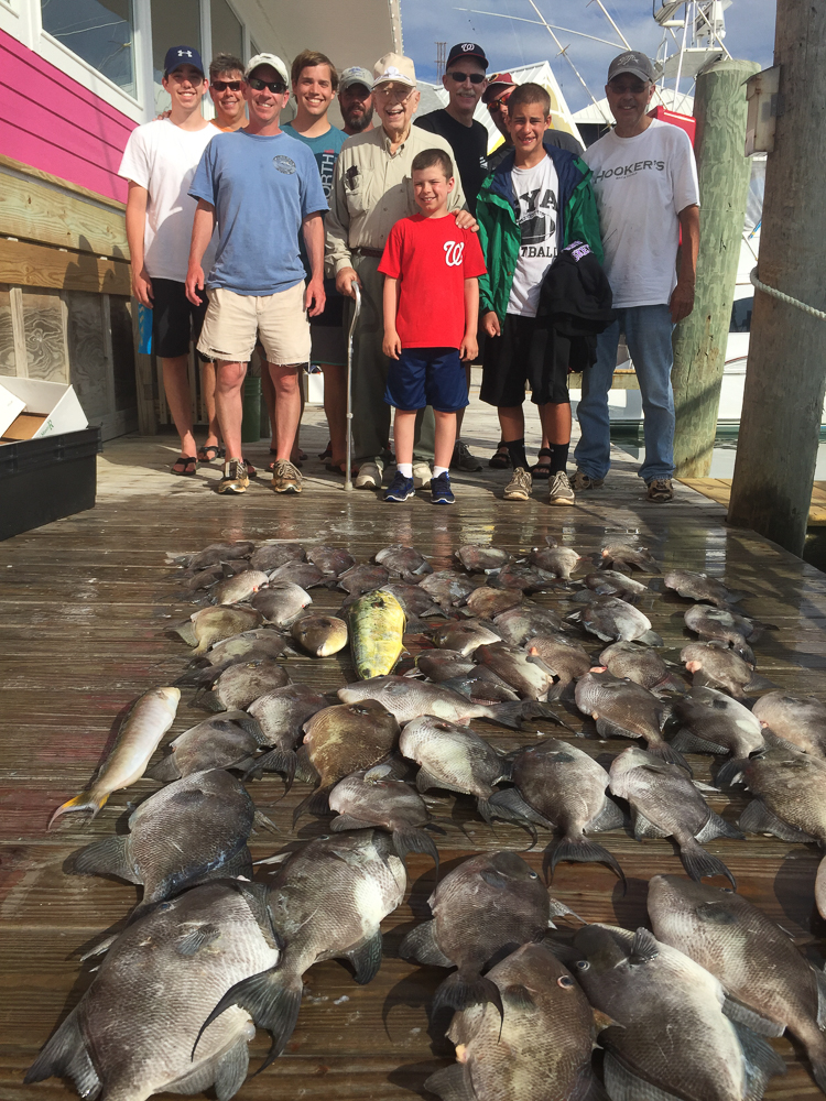
[[[132,0],[41,0],[43,30],[134,96]]]

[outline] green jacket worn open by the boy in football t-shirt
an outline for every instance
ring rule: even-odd
[[[554,162],[559,179],[559,248],[565,248],[573,241],[585,241],[602,263],[599,215],[589,183],[590,168],[585,161],[566,149],[546,145],[545,152]],[[504,321],[508,310],[521,243],[511,185],[513,161],[514,153],[511,152],[487,177],[476,200],[479,243],[488,269],[487,274],[479,277],[479,316],[492,309],[500,324]]]

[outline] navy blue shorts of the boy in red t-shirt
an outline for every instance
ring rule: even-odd
[[[411,412],[431,405],[456,413],[468,404],[467,378],[457,348],[403,348],[391,359],[384,401]]]

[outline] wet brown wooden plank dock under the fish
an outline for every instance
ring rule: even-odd
[[[22,1078],[91,981],[95,961],[81,963],[78,957],[107,930],[120,928],[135,902],[137,891],[128,884],[69,876],[62,865],[79,846],[110,835],[122,822],[124,808],[156,784],[142,781],[117,793],[89,826],[70,816],[51,833],[45,826],[51,811],[79,791],[102,760],[124,709],[140,693],[174,680],[187,662],[187,648],[166,632],[193,608],[176,597],[176,582],[164,564],[166,550],[198,549],[218,539],[281,538],[346,546],[365,560],[381,546],[405,542],[431,555],[434,568],[445,568],[453,550],[469,542],[518,552],[553,534],[587,555],[598,552],[607,537],[631,541],[652,549],[663,566],[725,576],[753,593],[743,609],[775,626],[756,647],[760,672],[779,686],[826,698],[826,576],[752,533],[727,527],[724,509],[714,501],[677,486],[673,504],[649,504],[634,464],[615,451],[617,462],[604,490],[583,498],[577,508],[550,509],[544,486],[531,502],[502,502],[507,472],[487,466],[480,475],[455,479],[458,503],[453,509],[434,509],[420,498],[391,508],[369,492],[346,495],[341,482],[324,473],[315,453],[323,449],[326,434],[317,413],[309,419],[303,445],[313,457],[305,465],[300,499],[275,498],[267,479],[253,483],[243,498],[218,498],[210,491],[217,469],[173,479],[165,472],[175,454],[169,437],[127,437],[108,443],[99,460],[94,511],[0,545],[1,1101],[75,1095],[68,1082],[50,1079],[23,1087]],[[493,418],[474,413],[466,424],[468,443],[487,462],[498,438]],[[264,455],[264,444],[250,448],[253,461],[263,462]],[[340,599],[326,589],[313,590],[313,597],[330,609]],[[544,596],[536,599],[552,603]],[[686,639],[686,602],[656,596],[642,607],[665,639],[666,656],[675,657]],[[598,652],[596,642],[594,650]],[[291,658],[290,672],[296,680],[325,688],[352,679],[341,655],[319,662]],[[204,717],[185,696],[169,738]],[[580,717],[568,721],[591,735],[580,744],[594,755],[628,744],[597,741]],[[535,740],[530,732],[478,729],[498,745]],[[708,777],[707,757],[693,757],[692,764],[698,778]],[[283,830],[278,839],[256,835],[254,859],[296,836],[325,831],[324,821],[307,817],[300,820],[297,835],[292,830],[292,811],[306,794],[305,785],[296,784],[281,802],[276,777],[251,791]],[[452,814],[454,800],[442,802],[441,813]],[[728,820],[745,805],[739,796],[713,795],[709,802]],[[472,851],[521,850],[529,843],[521,830],[504,825],[491,829],[477,820],[470,800],[456,800],[453,814],[465,821],[470,840],[458,829],[438,840],[444,870]],[[601,835],[600,841],[628,875],[627,895],[621,896],[608,869],[590,864],[559,865],[553,893],[586,919],[634,928],[645,923],[648,879],[681,871],[675,849],[670,841],[640,843],[622,832]],[[540,842],[526,854],[537,869],[546,836]],[[717,841],[709,849],[735,872],[739,890],[798,944],[814,951],[823,947],[824,926],[813,900],[819,860],[814,847],[749,837]],[[337,962],[313,968],[287,1051],[246,1082],[240,1101],[402,1101],[424,1095],[425,1078],[453,1058],[450,1045],[428,1033],[428,1002],[444,973],[396,956],[402,934],[414,918],[427,915],[434,884],[424,858],[411,858],[410,873],[409,901],[385,923],[385,958],[378,978],[360,988]],[[129,1012],[128,990],[123,1012]],[[785,1037],[773,1043],[789,1069],[784,1078],[772,1080],[767,1098],[822,1098],[796,1044]],[[265,1037],[259,1033],[253,1064],[264,1050]]]

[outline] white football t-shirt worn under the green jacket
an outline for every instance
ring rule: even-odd
[[[513,272],[508,313],[535,317],[545,272],[557,249],[557,195],[559,179],[554,162],[543,156],[533,168],[513,168],[513,197],[519,204],[522,242]]]

